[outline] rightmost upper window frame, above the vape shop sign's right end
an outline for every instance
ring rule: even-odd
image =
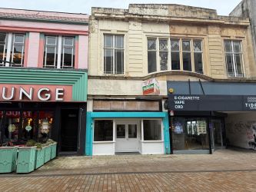
[[[231,42],[231,51],[226,51],[225,42],[230,41]],[[234,42],[239,43],[240,50],[239,52],[234,51]],[[243,46],[242,46],[242,40],[239,39],[224,39],[224,59],[225,59],[225,65],[226,65],[226,74],[228,78],[244,78],[245,72],[244,72],[244,54],[243,54]],[[235,55],[239,54],[241,56],[241,71],[242,75],[238,75],[238,68],[236,63]],[[227,63],[227,55],[231,55],[232,59],[232,71],[233,75],[228,74],[228,63]]]

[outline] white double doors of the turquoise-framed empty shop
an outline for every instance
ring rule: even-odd
[[[138,152],[139,130],[138,121],[116,121],[115,152]]]

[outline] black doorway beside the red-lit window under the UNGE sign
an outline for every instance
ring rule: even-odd
[[[78,110],[62,110],[61,151],[78,151]]]

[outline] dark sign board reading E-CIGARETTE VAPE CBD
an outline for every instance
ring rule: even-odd
[[[168,109],[173,111],[256,111],[256,96],[170,94]]]

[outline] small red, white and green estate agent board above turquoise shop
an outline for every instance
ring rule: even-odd
[[[142,83],[143,95],[159,95],[160,88],[159,83],[155,78],[152,78],[148,81]]]

